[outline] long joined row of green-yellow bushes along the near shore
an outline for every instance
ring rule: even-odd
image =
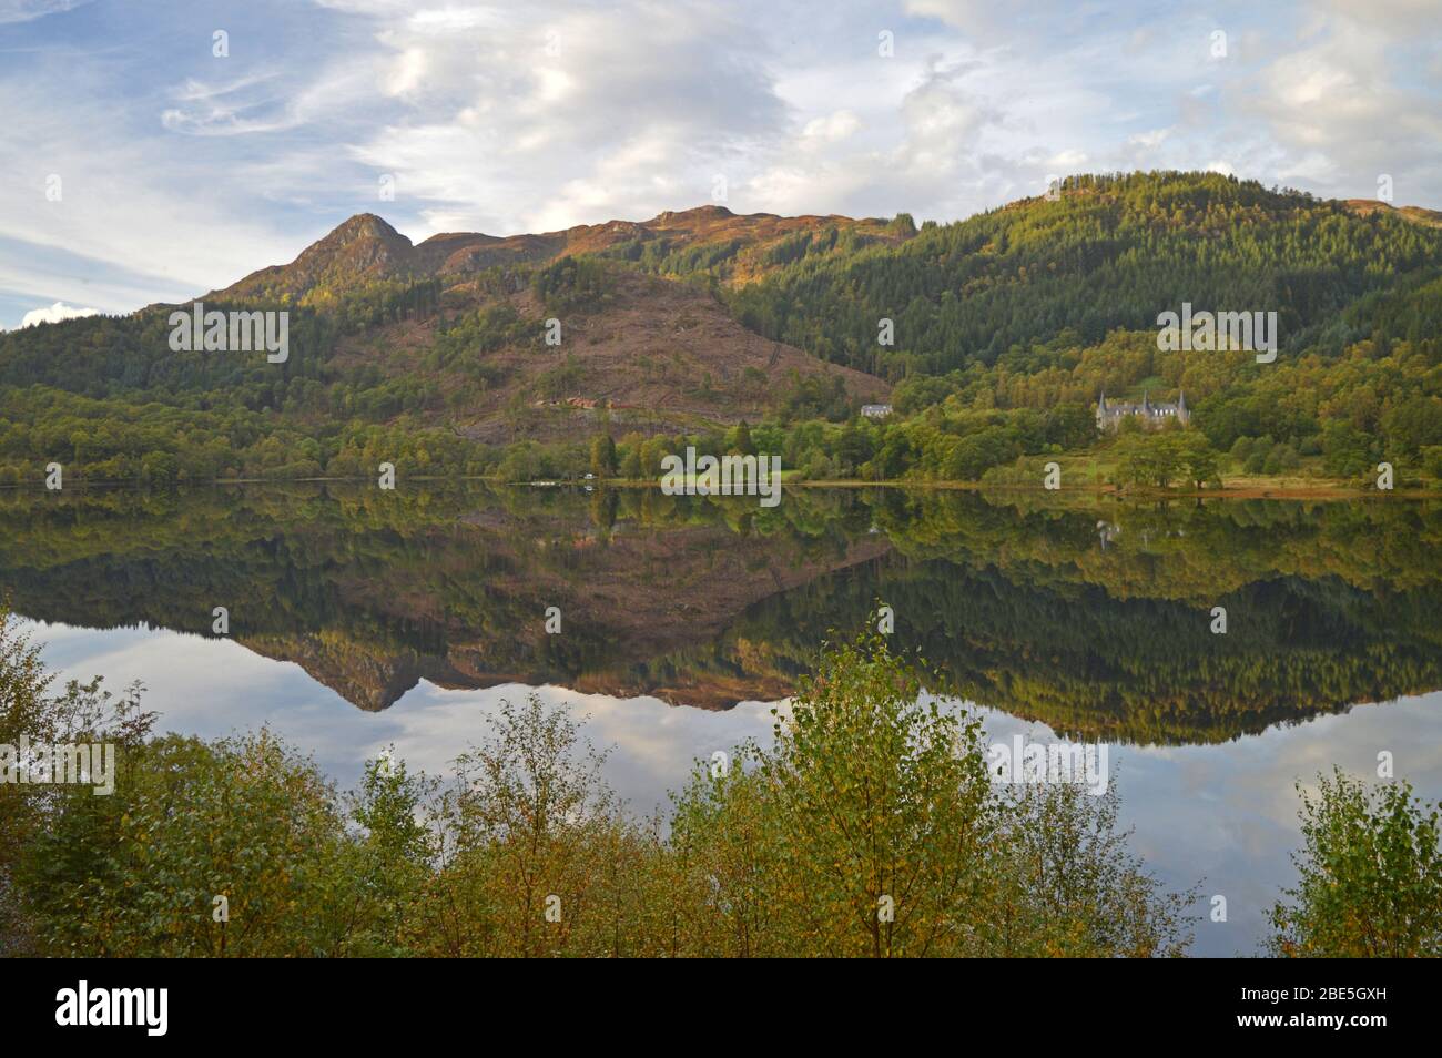
[[[0,641],[4,677],[52,734],[84,728],[121,752],[108,797],[0,788],[27,836],[0,862],[13,953],[1169,956],[1190,943],[1190,894],[1162,892],[1126,852],[1115,801],[994,787],[978,722],[926,698],[880,640],[828,650],[774,747],[698,763],[653,820],[626,812],[603,755],[534,696],[492,718],[448,783],[382,757],[340,796],[265,731],[150,737],[133,698],[61,731],[81,692],[46,699],[7,623]],[[4,734],[35,719],[7,716]]]

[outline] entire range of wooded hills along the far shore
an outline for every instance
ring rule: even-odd
[[[0,334],[0,481],[653,479],[694,444],[812,479],[1034,486],[1028,457],[1070,453],[1119,487],[1383,460],[1416,484],[1442,479],[1438,219],[1216,173],[1069,177],[920,229],[705,206],[412,244],[363,213],[205,295],[287,308],[283,365],[172,352],[166,306]],[[1182,304],[1275,313],[1279,356],[1161,350]],[[1184,392],[1188,440],[1099,435],[1103,391]]]

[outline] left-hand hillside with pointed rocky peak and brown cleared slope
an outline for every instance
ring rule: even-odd
[[[205,479],[226,463],[245,474],[319,474],[348,441],[384,448],[372,444],[378,435],[398,440],[395,460],[418,431],[435,431],[423,466],[461,460],[456,468],[483,473],[499,458],[489,447],[570,441],[584,451],[600,428],[699,437],[787,408],[844,417],[884,402],[890,386],[761,339],[707,284],[626,258],[642,244],[653,262],[708,257],[715,245],[761,252],[822,223],[868,242],[893,238],[883,222],[702,208],[646,223],[412,245],[384,219],[359,215],[290,264],[202,295],[211,310],[286,308],[284,365],[173,352],[176,306],[0,334],[0,440],[6,425],[16,431],[0,448],[0,479],[25,477],[3,464],[55,451],[56,438],[68,448],[56,458],[91,477]],[[611,251],[619,257],[594,257]],[[561,324],[558,344],[547,342],[551,319]],[[52,438],[40,415],[71,425]],[[71,444],[76,430],[91,443]],[[193,444],[198,437],[206,443]],[[267,440],[268,454],[228,458]]]

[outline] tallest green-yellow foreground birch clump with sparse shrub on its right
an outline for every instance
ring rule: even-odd
[[[981,738],[880,637],[828,649],[773,747],[676,799],[702,953],[1181,954],[1190,894],[1128,853],[1115,799],[1004,793]]]

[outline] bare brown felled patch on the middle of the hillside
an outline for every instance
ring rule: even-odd
[[[758,422],[787,386],[810,381],[846,402],[883,402],[890,386],[754,334],[689,284],[607,267],[590,304],[548,307],[529,287],[448,287],[441,310],[336,342],[332,370],[379,385],[444,394],[414,408],[470,440],[557,441],[596,430],[600,409],[620,432]],[[559,349],[539,343],[562,321]],[[474,352],[483,350],[483,356]]]

